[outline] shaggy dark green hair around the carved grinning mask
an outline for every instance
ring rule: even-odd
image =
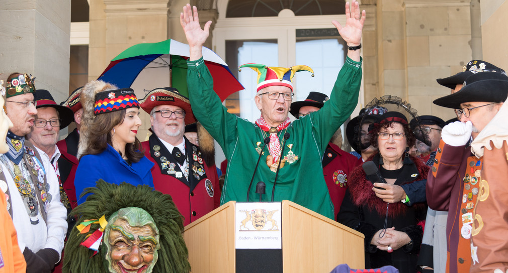
[[[182,215],[169,194],[153,190],[147,185],[134,186],[125,182],[116,185],[102,179],[97,181],[96,187],[86,188],[81,196],[88,193],[91,194],[86,198],[86,202],[71,212],[76,215],[77,223],[100,219],[102,216],[109,219],[122,208],[141,208],[153,218],[160,235],[161,248],[157,250],[158,260],[152,272],[190,271],[188,251],[182,236]],[[99,224],[91,224],[90,230],[85,233],[73,228],[65,247],[62,272],[108,272],[105,244],[101,244],[97,255],[80,245],[98,227]]]

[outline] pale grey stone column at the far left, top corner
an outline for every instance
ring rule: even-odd
[[[0,76],[27,72],[57,102],[69,95],[71,1],[3,0]]]

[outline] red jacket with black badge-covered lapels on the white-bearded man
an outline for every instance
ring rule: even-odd
[[[199,147],[183,138],[189,164],[188,181],[184,175],[176,177],[178,172],[183,174],[183,171],[155,134],[141,145],[146,157],[155,163],[151,169],[155,189],[171,195],[184,217],[183,225],[187,225],[218,208],[220,188],[215,165],[207,166],[201,158]],[[171,163],[175,165],[173,168]]]

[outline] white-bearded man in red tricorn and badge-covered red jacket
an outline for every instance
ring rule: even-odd
[[[150,114],[153,134],[142,142],[156,190],[170,194],[187,225],[219,206],[220,188],[215,165],[208,166],[199,146],[183,134],[196,123],[188,98],[171,87],[156,88],[139,101]]]

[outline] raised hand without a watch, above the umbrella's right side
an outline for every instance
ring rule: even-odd
[[[194,6],[191,9],[189,4],[183,7],[183,12],[180,13],[180,25],[183,28],[183,32],[185,32],[187,44],[189,44],[190,60],[201,58],[201,50],[210,34],[211,24],[212,21],[208,21],[203,29],[201,29],[199,25],[198,8]]]

